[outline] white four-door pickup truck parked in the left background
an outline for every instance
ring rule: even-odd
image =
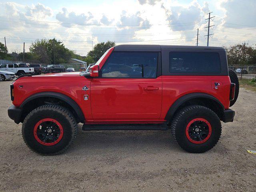
[[[1,71],[9,71],[13,72],[18,76],[24,74],[34,74],[34,68],[32,67],[20,67],[18,63],[7,63],[7,64],[0,64]]]

